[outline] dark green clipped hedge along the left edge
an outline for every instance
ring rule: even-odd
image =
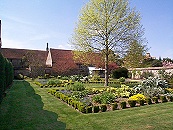
[[[6,89],[12,84],[14,77],[13,66],[0,53],[0,103]]]

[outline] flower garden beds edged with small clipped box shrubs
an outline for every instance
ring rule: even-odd
[[[156,77],[136,82],[124,77],[104,80],[98,77],[71,76],[37,79],[34,82],[48,93],[81,113],[122,110],[173,101],[173,89],[165,80]]]

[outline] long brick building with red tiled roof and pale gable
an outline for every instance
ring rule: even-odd
[[[52,49],[46,51],[1,48],[1,53],[14,66],[15,75],[88,75],[87,66],[73,60],[72,50]],[[28,56],[29,55],[29,56]],[[28,58],[26,58],[28,57]],[[26,58],[26,59],[25,59]],[[26,61],[27,60],[27,61]],[[24,62],[28,62],[26,65]],[[32,62],[32,63],[31,63]]]

